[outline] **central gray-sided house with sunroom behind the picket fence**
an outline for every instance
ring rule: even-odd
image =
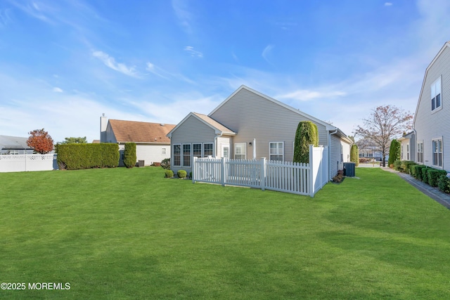
[[[332,178],[349,162],[352,141],[338,127],[285,105],[258,91],[240,86],[209,115],[189,113],[167,136],[171,168],[191,171],[193,157],[226,157],[293,161],[295,132],[301,121],[319,131],[319,145],[330,146]]]

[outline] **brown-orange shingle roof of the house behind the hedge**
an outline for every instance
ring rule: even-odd
[[[170,143],[167,133],[174,124],[124,121],[110,119],[109,124],[117,143]]]

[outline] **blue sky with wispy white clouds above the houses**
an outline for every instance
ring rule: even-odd
[[[2,0],[0,134],[92,141],[102,113],[177,124],[245,84],[352,135],[378,105],[416,110],[449,15],[448,0]]]

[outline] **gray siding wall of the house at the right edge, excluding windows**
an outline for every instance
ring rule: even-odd
[[[432,112],[430,86],[442,77],[442,109]],[[430,66],[424,79],[414,129],[416,143],[423,141],[423,163],[432,166],[432,139],[441,138],[443,144],[442,169],[450,170],[450,49],[447,47]],[[417,148],[414,147],[416,150]],[[414,155],[416,159],[416,155]]]

